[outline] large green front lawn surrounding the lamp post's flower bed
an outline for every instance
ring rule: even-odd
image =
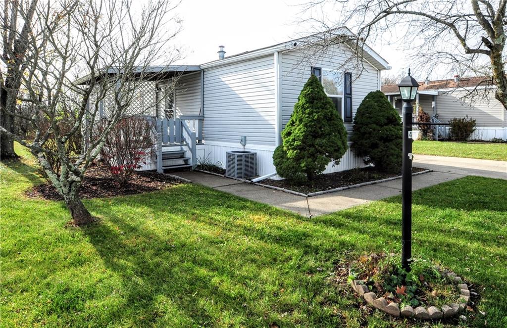
[[[101,222],[64,228],[61,202],[23,196],[41,179],[18,153],[0,164],[3,327],[417,326],[368,315],[332,275],[400,248],[399,197],[309,219],[181,185],[86,201]],[[480,177],[414,194],[413,252],[477,284],[486,314],[471,325],[507,326],[505,195]]]

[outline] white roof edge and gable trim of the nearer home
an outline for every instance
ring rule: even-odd
[[[325,32],[319,32],[312,35],[308,35],[307,37],[304,38],[290,40],[273,46],[242,52],[239,54],[227,56],[224,59],[213,60],[202,64],[201,68],[227,65],[233,62],[269,55],[275,52],[288,51],[293,50],[295,48],[308,46],[310,44],[330,41],[339,37],[349,37],[351,40],[349,42],[345,41],[345,43],[347,43],[353,49],[354,46],[352,39],[355,38],[355,34],[352,33],[352,31],[350,31],[347,27],[338,27]],[[363,50],[364,50],[363,53],[364,58],[368,62],[370,62],[375,68],[380,70],[391,68],[391,66],[389,66],[389,63],[368,45],[365,44],[363,46]]]

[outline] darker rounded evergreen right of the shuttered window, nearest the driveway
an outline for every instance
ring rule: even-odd
[[[380,171],[399,172],[402,166],[401,119],[382,91],[372,91],[354,117],[352,150]]]

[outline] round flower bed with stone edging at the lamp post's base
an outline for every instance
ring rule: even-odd
[[[456,273],[428,261],[413,262],[408,273],[399,262],[393,254],[361,256],[349,268],[353,290],[373,307],[395,317],[453,318],[470,304],[469,284]]]

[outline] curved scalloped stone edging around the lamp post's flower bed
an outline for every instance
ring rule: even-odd
[[[462,281],[461,277],[452,271],[442,270],[439,267],[435,267],[435,269],[443,276],[447,276],[460,290],[456,303],[443,305],[442,309],[436,306],[428,306],[427,308],[418,306],[414,309],[410,305],[406,305],[400,311],[400,306],[397,303],[388,303],[383,297],[377,298],[377,294],[373,291],[369,291],[370,289],[368,286],[360,284],[360,280],[351,281],[352,289],[360,296],[363,296],[368,304],[395,317],[415,317],[421,320],[439,320],[442,318],[455,317],[463,311],[470,302],[470,290],[468,289],[468,285]]]

